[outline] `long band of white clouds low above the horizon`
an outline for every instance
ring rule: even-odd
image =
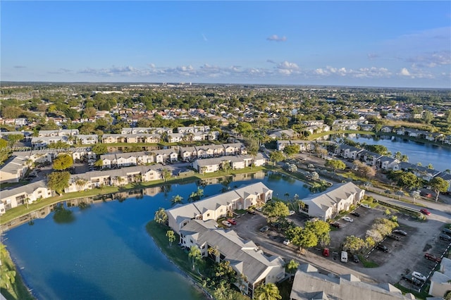
[[[276,62],[268,60],[271,63],[270,68],[243,68],[240,65],[230,65],[223,67],[219,65],[178,65],[176,67],[157,67],[149,64],[144,68],[135,68],[132,66],[93,69],[86,68],[79,70],[80,74],[94,75],[95,77],[122,77],[128,80],[190,80],[202,81],[214,79],[221,82],[221,79],[240,78],[245,80],[276,80],[285,78],[285,80],[322,80],[326,78],[354,78],[360,80],[393,79],[398,78],[428,78],[433,79],[432,73],[425,72],[415,66],[410,68],[401,68],[398,70],[389,70],[380,67],[364,68],[345,68],[333,67],[327,65],[324,68],[313,70],[300,68],[297,63],[290,61]],[[69,70],[58,70],[58,73],[68,72]],[[449,77],[449,74],[440,75],[443,78]]]

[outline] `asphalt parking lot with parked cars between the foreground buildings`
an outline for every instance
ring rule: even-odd
[[[445,225],[439,220],[434,220],[433,215],[428,220],[420,222],[412,217],[400,213],[393,213],[397,216],[400,229],[407,232],[406,236],[399,235],[400,239],[385,238],[381,244],[387,246],[388,252],[378,249],[370,249],[365,253],[366,259],[376,263],[376,268],[364,268],[362,263],[354,263],[350,260],[348,263],[341,263],[338,257],[341,251],[341,244],[348,235],[354,235],[362,239],[365,238],[366,230],[371,228],[373,220],[376,218],[385,218],[385,207],[376,208],[358,207],[356,211],[359,217],[347,214],[352,217],[353,222],[338,220],[340,229],[335,228],[330,232],[331,242],[329,245],[330,256],[321,255],[321,246],[299,256],[297,247],[283,244],[285,237],[275,230],[260,232],[261,227],[266,225],[266,218],[261,213],[249,215],[247,213],[236,218],[237,225],[233,226],[240,237],[250,239],[259,244],[268,254],[277,254],[283,258],[295,258],[301,263],[309,262],[319,265],[329,272],[338,274],[353,273],[364,281],[374,280],[376,282],[388,282],[395,284],[400,282],[407,288],[419,289],[423,285],[416,286],[412,282],[402,280],[402,275],[410,274],[412,271],[419,272],[426,277],[432,275],[433,269],[437,265],[435,261],[424,258],[424,254],[433,254],[441,257],[447,251],[450,242],[444,242],[438,238],[441,228]],[[288,217],[296,225],[304,225],[306,218],[299,213]],[[335,255],[334,255],[335,253]],[[325,271],[326,272],[326,271]]]

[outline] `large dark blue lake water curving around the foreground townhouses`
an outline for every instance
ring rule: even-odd
[[[213,196],[257,181],[280,198],[309,194],[303,182],[274,173],[168,185],[154,196],[69,207],[70,221],[52,212],[5,232],[4,244],[38,299],[204,299],[161,254],[145,225],[177,194],[186,201],[199,186]]]

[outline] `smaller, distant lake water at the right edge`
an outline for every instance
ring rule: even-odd
[[[400,151],[409,157],[409,163],[421,163],[424,166],[431,163],[434,169],[439,171],[451,169],[451,149],[449,147],[414,142],[401,137],[373,135],[347,135],[346,137],[358,143],[385,146],[392,154]],[[335,137],[335,139],[337,138]]]

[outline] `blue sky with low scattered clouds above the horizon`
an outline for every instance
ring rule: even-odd
[[[1,1],[1,80],[451,88],[450,1]]]

